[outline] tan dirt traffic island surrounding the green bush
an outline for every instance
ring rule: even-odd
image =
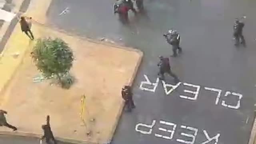
[[[17,25],[0,60],[0,106],[18,131],[0,127],[0,134],[42,136],[41,125],[50,115],[57,140],[92,144],[111,140],[124,105],[122,86],[132,84],[142,52],[81,39],[36,23],[32,32],[36,38],[50,36],[68,43],[74,52],[70,73],[75,83],[66,90],[44,79],[30,57],[36,42]]]

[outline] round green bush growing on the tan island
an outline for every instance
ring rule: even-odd
[[[45,78],[57,78],[62,88],[70,88],[74,78],[69,71],[74,56],[71,48],[60,38],[39,38],[31,56]]]

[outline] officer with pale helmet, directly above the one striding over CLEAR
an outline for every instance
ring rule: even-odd
[[[172,45],[173,57],[177,56],[177,50],[181,53],[182,48],[180,47],[180,34],[176,30],[168,30],[167,34],[164,34],[168,44]]]

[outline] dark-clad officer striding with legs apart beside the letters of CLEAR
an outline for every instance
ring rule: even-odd
[[[170,76],[172,76],[175,80],[175,82],[179,82],[178,76],[174,74],[170,67],[169,58],[164,58],[163,56],[159,56],[160,61],[158,62],[157,66],[159,67],[158,76],[160,77],[160,80],[165,80],[164,74],[168,73]]]

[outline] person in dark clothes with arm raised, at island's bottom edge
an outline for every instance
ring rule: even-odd
[[[44,131],[44,135],[41,140],[46,139],[47,144],[57,144],[50,127],[50,116],[48,115],[46,118],[46,124],[42,125],[42,129]]]

